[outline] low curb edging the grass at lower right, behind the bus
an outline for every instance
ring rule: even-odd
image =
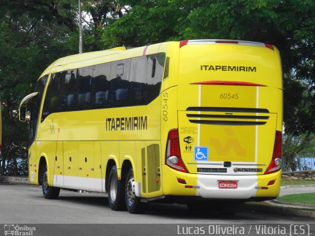
[[[300,210],[300,209],[292,209],[287,207],[275,207],[270,205],[255,205],[255,204],[245,204],[245,208],[254,211],[263,211],[269,213],[278,213],[285,215],[295,215],[302,217],[311,217],[315,218],[314,210]]]

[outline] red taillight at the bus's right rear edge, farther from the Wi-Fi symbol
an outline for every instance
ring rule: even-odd
[[[268,166],[265,174],[271,174],[274,172],[277,172],[281,169],[282,164],[282,132],[276,131],[276,137],[275,137],[275,145],[274,145],[274,152],[272,155],[272,160],[270,162],[270,165]]]

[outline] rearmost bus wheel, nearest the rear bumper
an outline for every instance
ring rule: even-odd
[[[135,195],[133,169],[130,168],[126,177],[125,185],[126,206],[130,213],[143,213],[146,203],[142,203],[139,197]]]

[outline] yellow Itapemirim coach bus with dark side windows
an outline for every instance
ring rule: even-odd
[[[146,203],[246,202],[279,195],[282,67],[275,46],[186,40],[56,60],[20,104],[29,177]]]

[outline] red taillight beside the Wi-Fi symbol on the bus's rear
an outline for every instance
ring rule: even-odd
[[[181,157],[178,129],[171,129],[168,132],[165,151],[165,165],[177,171],[188,172]]]

